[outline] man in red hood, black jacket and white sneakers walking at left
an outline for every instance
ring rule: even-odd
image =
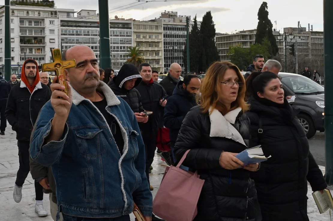
[[[19,203],[22,199],[22,186],[30,171],[29,145],[33,126],[40,109],[51,98],[51,91],[39,79],[37,61],[27,59],[22,65],[21,83],[12,87],[5,111],[6,118],[12,129],[16,131],[19,148],[19,169],[16,175],[13,198]],[[41,174],[47,174],[47,167],[41,166]],[[44,175],[40,176],[41,179]],[[40,180],[35,180],[36,204],[38,216],[47,216],[43,207],[43,187]]]

